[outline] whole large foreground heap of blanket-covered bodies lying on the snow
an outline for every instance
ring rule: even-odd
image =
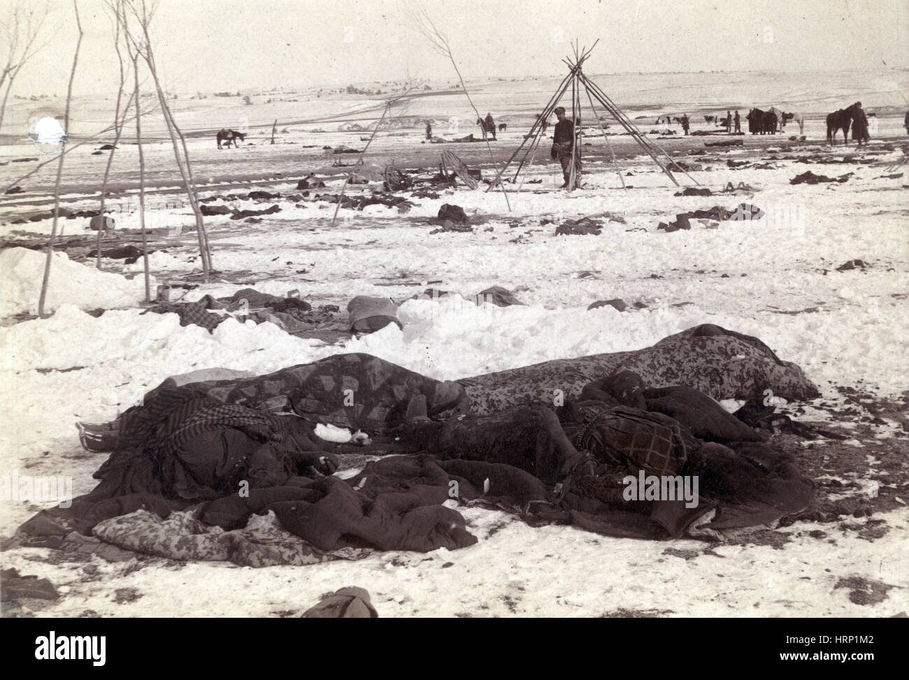
[[[95,489],[70,507],[38,513],[6,547],[102,552],[113,546],[180,560],[305,565],[375,550],[474,545],[459,505],[504,508],[532,525],[560,522],[654,539],[682,535],[710,510],[714,529],[763,525],[803,509],[813,497],[813,484],[785,455],[714,399],[747,399],[765,389],[811,399],[819,395],[816,387],[757,338],[715,325],[634,352],[456,382],[365,354],[334,355],[269,375],[179,382],[168,379],[143,405],[105,425],[113,453],[95,473]],[[626,383],[636,386],[625,389]],[[568,400],[558,409],[561,427],[585,463],[575,461],[553,485],[537,466],[543,430],[520,425],[497,437],[494,421],[520,423],[508,414],[551,407],[557,391]],[[573,402],[580,406],[572,408]],[[494,440],[490,450],[508,449],[512,457],[479,455],[466,440],[451,451],[411,439],[410,453],[371,462],[346,479],[332,474],[334,445],[315,436],[316,424],[407,439],[415,403],[426,421],[435,417],[443,428],[493,423],[485,431],[493,434],[484,435]],[[598,406],[589,410],[591,403]],[[532,432],[535,463],[533,455],[517,455]],[[613,437],[611,462],[619,467],[663,461],[664,471],[705,475],[702,505],[674,505],[668,514],[617,508],[603,493],[608,475],[591,469],[609,463],[609,456],[587,465],[591,452],[607,448],[603,433]],[[725,461],[722,469],[711,468],[716,460]]]

